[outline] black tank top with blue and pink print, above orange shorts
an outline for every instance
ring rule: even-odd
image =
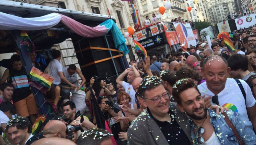
[[[9,75],[10,77],[7,82],[12,83],[14,86],[12,96],[13,103],[18,102],[31,94],[27,74],[23,67],[21,70],[10,68]]]

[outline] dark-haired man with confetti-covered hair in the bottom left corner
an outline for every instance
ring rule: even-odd
[[[11,139],[18,145],[25,145],[33,137],[32,126],[27,118],[16,116],[6,124],[6,131]]]

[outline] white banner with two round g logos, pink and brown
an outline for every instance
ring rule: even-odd
[[[237,29],[248,28],[256,23],[256,14],[246,15],[240,18],[235,18]]]

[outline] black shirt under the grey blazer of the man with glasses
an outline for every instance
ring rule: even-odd
[[[182,144],[191,145],[189,138],[186,133],[182,130],[180,125],[176,121],[176,115],[169,109],[169,115],[172,119],[171,122],[159,121],[155,119],[150,113],[149,108],[147,108],[149,115],[155,120],[161,131],[163,132],[166,140],[169,144]]]

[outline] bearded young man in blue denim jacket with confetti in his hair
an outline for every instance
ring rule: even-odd
[[[188,123],[194,145],[238,144],[239,141],[246,145],[255,144],[256,136],[251,122],[231,110],[217,115],[207,109],[192,79],[179,80],[172,93],[180,110],[191,118]],[[230,129],[228,120],[234,130]]]

